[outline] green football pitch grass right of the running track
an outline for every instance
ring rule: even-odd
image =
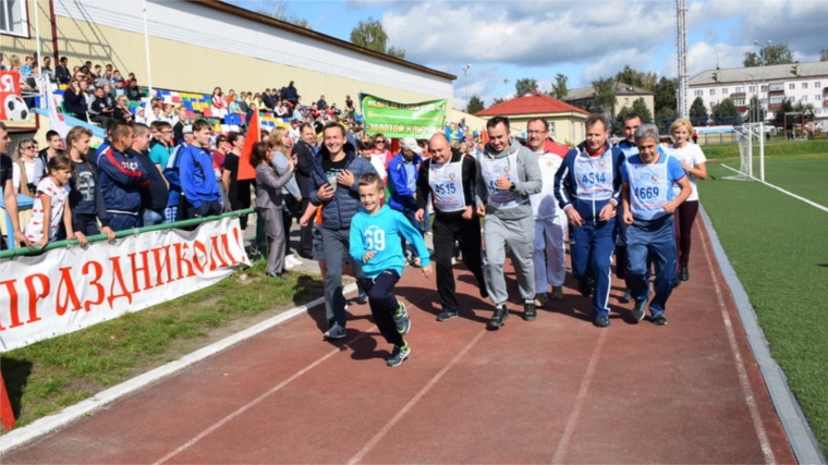
[[[766,180],[828,206],[828,157],[799,158],[768,162]],[[757,182],[723,181],[733,172],[717,163],[708,173],[702,203],[828,454],[828,212]]]

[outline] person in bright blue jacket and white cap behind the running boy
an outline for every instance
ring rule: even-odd
[[[414,137],[405,137],[400,144],[400,152],[388,162],[388,185],[391,187],[391,198],[388,206],[400,211],[409,219],[415,230],[423,234],[421,223],[416,220],[417,212],[417,178],[419,166],[423,164],[423,148]],[[402,250],[405,254],[405,237],[402,237]],[[419,255],[415,247],[411,248],[411,261],[419,266]]]

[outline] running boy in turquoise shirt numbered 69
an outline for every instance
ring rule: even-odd
[[[402,338],[411,329],[409,313],[405,304],[392,293],[405,260],[401,238],[405,237],[417,249],[423,274],[428,279],[431,264],[423,237],[405,216],[387,205],[380,207],[383,189],[379,175],[363,174],[358,188],[364,209],[351,222],[351,256],[363,264],[362,286],[368,292],[374,322],[386,341],[394,345],[387,364],[395,367],[411,354],[409,343]]]

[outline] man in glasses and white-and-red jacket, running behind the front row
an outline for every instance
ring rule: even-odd
[[[563,237],[567,234],[567,215],[555,199],[555,174],[561,167],[569,147],[549,138],[549,123],[534,118],[526,124],[528,148],[537,156],[544,186],[529,196],[535,217],[535,305],[544,306],[552,286],[552,299],[563,298],[563,280],[567,278],[567,255]]]

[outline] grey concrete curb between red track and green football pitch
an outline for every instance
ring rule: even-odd
[[[724,277],[724,281],[733,296],[733,302],[736,304],[739,317],[747,334],[747,342],[751,344],[751,351],[754,357],[756,357],[756,363],[759,365],[762,377],[770,393],[770,400],[774,402],[774,407],[782,423],[782,428],[784,428],[788,435],[791,450],[796,456],[796,461],[801,464],[825,464],[825,457],[819,449],[819,443],[814,437],[814,432],[811,430],[811,426],[808,426],[807,419],[805,419],[805,415],[802,413],[802,408],[800,408],[800,404],[791,391],[791,387],[788,386],[788,378],[770,355],[768,341],[762,327],[759,327],[759,320],[753,306],[751,306],[747,293],[742,286],[741,281],[739,281],[733,266],[730,265],[728,255],[719,242],[719,236],[716,234],[716,230],[713,229],[710,217],[707,216],[707,211],[705,211],[704,206],[701,204],[698,212],[702,215],[705,228],[707,228],[714,254],[719,261],[721,274]]]

